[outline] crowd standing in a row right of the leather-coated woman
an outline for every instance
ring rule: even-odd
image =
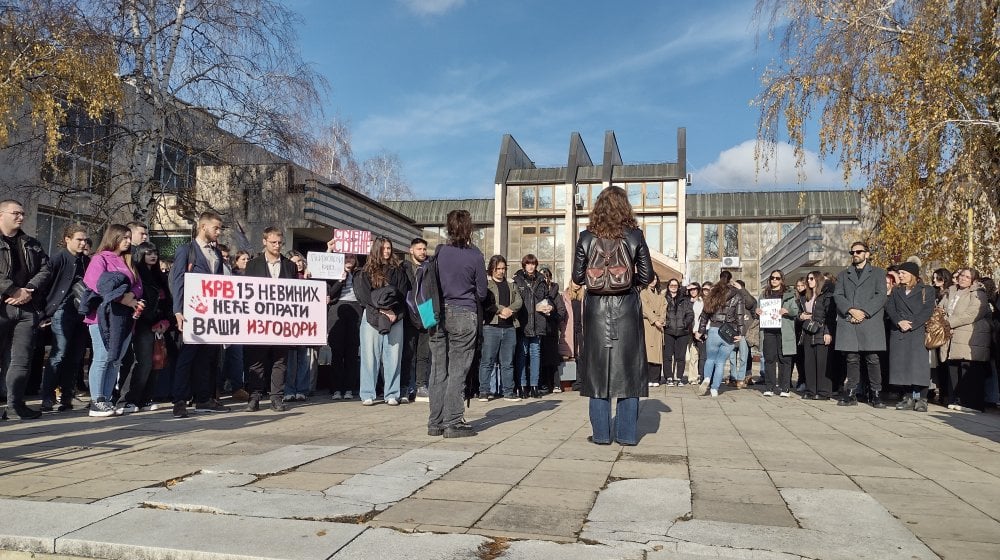
[[[789,397],[795,388],[841,406],[884,408],[891,394],[901,410],[926,412],[929,402],[964,412],[995,408],[995,283],[974,268],[939,268],[925,283],[916,257],[882,269],[863,242],[849,253],[850,265],[836,276],[812,271],[789,282],[773,270],[757,298],[729,271],[714,284],[688,284],[686,295],[676,280],[664,292],[654,278],[641,298],[649,386],[697,383],[715,397],[728,363],[727,384],[745,389],[755,384],[757,353],[756,384],[766,397]],[[762,326],[764,307],[777,310],[777,326]],[[928,328],[944,334],[929,336]]]

